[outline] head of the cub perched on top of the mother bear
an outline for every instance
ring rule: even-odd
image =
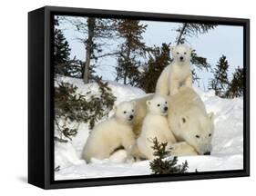
[[[190,61],[190,56],[193,49],[184,44],[179,44],[170,47],[170,51],[174,62],[179,64],[186,64]]]

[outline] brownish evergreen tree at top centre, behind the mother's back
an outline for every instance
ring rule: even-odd
[[[139,24],[138,20],[118,20],[118,37],[124,40],[119,45],[118,66],[116,80],[123,80],[124,84],[136,85],[139,79],[138,68],[141,58],[146,54],[146,45],[142,42],[142,34],[147,25]]]

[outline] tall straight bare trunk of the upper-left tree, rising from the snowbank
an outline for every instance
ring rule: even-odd
[[[94,36],[94,27],[95,27],[95,18],[89,17],[87,19],[87,27],[88,27],[88,37],[87,37],[87,46],[86,46],[86,62],[85,62],[85,69],[84,69],[84,83],[89,82],[89,66],[91,60],[91,54],[93,50],[93,36]]]

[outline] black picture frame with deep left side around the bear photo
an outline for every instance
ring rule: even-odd
[[[244,79],[244,158],[243,170],[207,171],[173,175],[147,175],[84,180],[54,181],[53,126],[53,15],[87,15],[152,21],[194,22],[243,26]],[[250,20],[241,18],[198,15],[169,15],[45,6],[28,14],[28,182],[43,189],[146,183],[159,181],[188,181],[243,177],[250,175]]]

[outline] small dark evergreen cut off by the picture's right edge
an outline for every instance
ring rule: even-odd
[[[244,70],[238,67],[233,73],[232,80],[225,93],[226,98],[240,97],[243,95],[244,90]]]

